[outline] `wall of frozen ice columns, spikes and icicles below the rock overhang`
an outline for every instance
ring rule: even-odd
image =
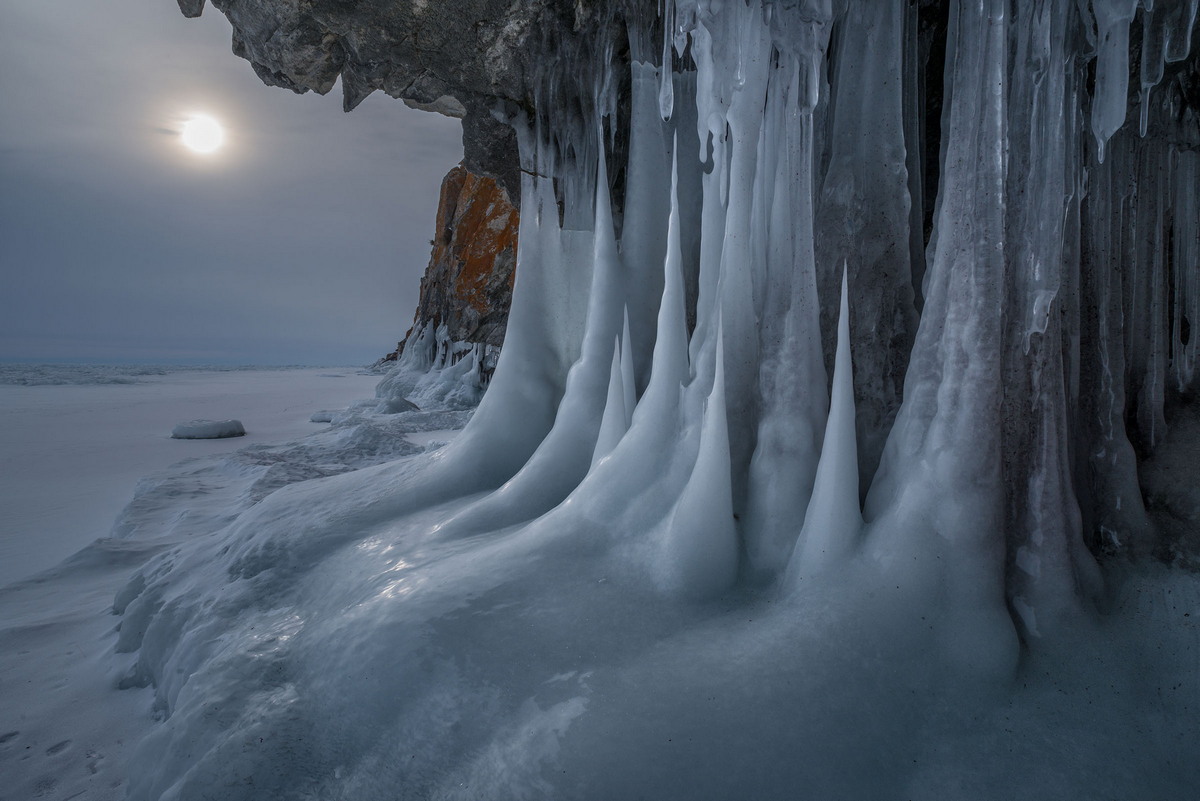
[[[480,416],[532,386],[557,411],[462,522],[643,482],[664,586],[944,550],[994,628],[1072,614],[1085,541],[1153,547],[1127,424],[1152,448],[1195,383],[1200,137],[1154,88],[1195,60],[1196,4],[1146,6],[625,10],[628,122],[610,43],[592,102],[550,89],[522,126],[523,308]]]

